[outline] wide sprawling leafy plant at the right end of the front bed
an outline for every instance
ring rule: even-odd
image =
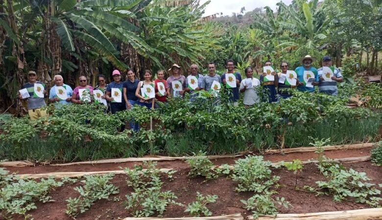
[[[333,200],[338,202],[350,200],[367,203],[371,207],[379,206],[381,191],[374,187],[375,184],[366,182],[371,180],[366,173],[346,169],[332,162],[323,162],[318,169],[327,181],[316,181],[316,189],[310,186],[304,186],[304,189],[317,195],[333,195]]]

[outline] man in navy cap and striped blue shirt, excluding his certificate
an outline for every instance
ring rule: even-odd
[[[332,58],[330,56],[325,56],[322,58],[322,66],[327,66],[330,67],[332,66]],[[323,67],[317,69],[318,72],[318,78],[320,80],[318,84],[318,92],[323,92],[328,95],[337,95],[337,82],[340,83],[343,81],[341,71],[339,69],[334,68],[333,75],[331,79],[333,80],[332,82],[325,81],[324,78],[322,77],[322,70]]]

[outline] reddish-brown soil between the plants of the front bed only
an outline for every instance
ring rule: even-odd
[[[379,183],[381,180],[382,170],[380,167],[373,166],[370,162],[358,163],[344,163],[346,167],[352,167],[356,171],[366,172],[372,178],[372,183]],[[219,198],[216,203],[208,205],[210,211],[214,216],[224,214],[241,213],[242,216],[248,216],[250,213],[242,208],[240,199],[247,199],[253,193],[237,193],[235,187],[237,184],[224,176],[217,179],[203,182],[204,178],[197,177],[189,179],[187,173],[189,168],[181,168],[174,176],[173,181],[166,181],[163,190],[171,190],[178,196],[176,201],[182,202],[187,205],[194,201],[196,192],[203,195],[217,195]],[[365,204],[357,204],[353,202],[334,202],[330,196],[315,197],[312,193],[295,191],[294,181],[295,176],[292,172],[285,169],[274,169],[273,174],[280,176],[281,179],[278,197],[284,197],[293,205],[290,209],[278,207],[280,213],[308,213],[308,212],[325,212],[325,211],[339,211],[339,210],[354,210],[368,208]],[[304,167],[303,174],[299,176],[298,187],[302,188],[304,185],[315,185],[315,181],[324,180],[324,177],[319,173],[316,165],[307,164]],[[132,192],[125,183],[124,175],[116,175],[113,179],[113,184],[119,186],[120,193],[116,196],[111,196],[109,200],[102,199],[96,201],[95,204],[84,214],[80,214],[77,220],[112,220],[118,218],[125,218],[130,216],[128,210],[124,209],[123,201],[125,195]],[[65,214],[66,199],[69,197],[77,197],[78,194],[72,188],[80,185],[75,183],[70,186],[60,187],[50,195],[55,202],[40,203],[38,202],[37,210],[30,212],[35,220],[70,220]],[[119,201],[114,201],[116,198]],[[185,208],[169,205],[164,217],[190,217],[184,213]],[[23,218],[17,218],[23,219]]]

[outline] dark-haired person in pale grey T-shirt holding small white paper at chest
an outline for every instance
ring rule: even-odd
[[[249,108],[260,102],[256,87],[260,86],[260,81],[253,77],[252,67],[245,68],[246,79],[240,82],[240,92],[244,93],[243,104],[245,108]]]

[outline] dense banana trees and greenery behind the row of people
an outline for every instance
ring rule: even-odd
[[[215,20],[202,17],[208,3],[1,0],[2,111],[23,112],[16,95],[28,70],[48,85],[61,73],[72,87],[80,75],[94,86],[97,74],[109,76],[113,68],[130,67],[142,77],[144,69],[155,72],[172,63],[185,68],[215,61],[223,68],[229,58],[239,69],[259,68],[267,59],[276,66],[286,60],[293,68],[306,54],[318,58],[316,67],[323,55],[331,55],[347,77],[381,70],[381,0],[293,0],[277,3],[277,11],[243,9]]]

